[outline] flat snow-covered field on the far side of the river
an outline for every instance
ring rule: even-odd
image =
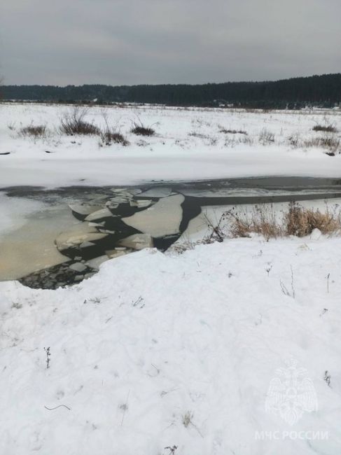
[[[111,127],[130,146],[99,147],[98,137],[67,137],[57,130],[71,106],[0,106],[0,185],[119,185],[151,180],[240,176],[340,176],[341,156],[309,144],[323,137],[315,125],[334,125],[341,111],[245,112],[224,109],[91,107],[86,120]],[[153,125],[155,137],[130,132],[132,122]],[[21,127],[46,125],[45,139],[18,138]],[[236,130],[233,134],[221,130]],[[270,136],[267,135],[270,133]],[[274,135],[272,138],[271,134]],[[267,141],[267,139],[273,139]],[[308,144],[308,145],[307,145]],[[46,153],[46,151],[50,153]]]

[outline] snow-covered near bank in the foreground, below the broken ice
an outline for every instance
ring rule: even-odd
[[[337,455],[340,246],[234,239],[127,255],[69,289],[0,283],[1,453]],[[265,411],[291,358],[318,404],[299,388],[314,410],[293,425]]]

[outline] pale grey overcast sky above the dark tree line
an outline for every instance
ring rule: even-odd
[[[5,84],[275,80],[341,71],[341,0],[1,0]]]

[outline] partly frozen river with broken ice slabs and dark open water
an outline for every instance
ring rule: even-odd
[[[195,223],[202,211],[339,199],[340,179],[298,177],[1,188],[0,281],[43,288],[81,281],[104,260],[147,247],[165,251],[179,238],[204,235],[202,218]]]

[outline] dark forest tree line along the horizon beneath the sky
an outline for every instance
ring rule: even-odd
[[[41,102],[298,109],[304,106],[340,106],[341,73],[200,85],[4,85],[1,92],[3,99]]]

